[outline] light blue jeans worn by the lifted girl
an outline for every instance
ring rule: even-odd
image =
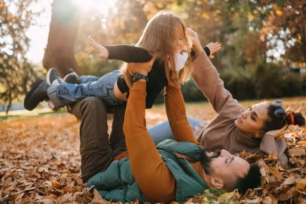
[[[95,96],[103,100],[105,105],[118,105],[113,92],[114,84],[120,76],[119,70],[106,73],[102,77],[80,76],[80,84],[61,83],[48,88],[48,96],[55,107],[62,107],[87,96]]]

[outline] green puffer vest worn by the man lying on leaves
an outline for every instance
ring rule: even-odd
[[[203,147],[191,142],[178,142],[174,139],[166,139],[156,147],[176,179],[176,201],[183,202],[188,197],[208,189],[208,185],[195,172],[190,163],[185,158],[174,154],[179,153],[194,161],[199,161]],[[104,172],[99,172],[88,180],[87,187],[91,185],[95,185],[94,187],[106,200],[123,203],[136,199],[140,203],[148,201],[135,182],[129,158],[111,162]]]

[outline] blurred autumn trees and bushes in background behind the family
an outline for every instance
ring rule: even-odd
[[[29,9],[35,0],[16,0],[17,12],[8,9],[8,4],[13,2],[0,0],[0,99],[4,102],[24,94],[29,88],[28,81],[35,78],[32,65],[24,56],[28,46],[25,33],[39,13]],[[159,10],[166,9],[179,14],[187,26],[196,30],[202,45],[210,41],[222,43],[222,50],[212,62],[225,87],[237,99],[306,93],[303,75],[290,72],[292,64],[304,67],[306,61],[304,0],[117,0],[107,16],[96,10],[80,12],[77,7],[69,6],[71,0],[54,0],[53,9],[62,9],[61,4],[69,8],[65,12],[73,14],[67,16],[75,15],[64,25],[78,27],[76,37],[70,37],[74,59],[69,65],[63,63],[61,55],[56,58],[51,54],[50,57],[65,64],[63,68],[73,67],[79,74],[101,76],[121,64],[116,60],[99,60],[86,43],[88,34],[101,44],[136,43],[147,21]],[[55,18],[52,10],[54,21]],[[68,26],[69,23],[76,26]],[[58,21],[52,26],[57,24]],[[50,42],[52,33],[54,31],[49,33],[48,44],[62,44],[61,41]],[[45,61],[50,62],[44,58]],[[44,67],[54,66],[52,63],[44,63]],[[204,99],[192,80],[182,86],[182,91],[186,101]],[[157,101],[163,99],[159,97]]]

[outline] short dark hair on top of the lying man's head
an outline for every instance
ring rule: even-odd
[[[238,189],[238,192],[242,195],[247,191],[248,188],[256,188],[260,186],[260,168],[256,163],[251,163],[249,170],[244,178],[238,177],[235,185],[232,189]]]

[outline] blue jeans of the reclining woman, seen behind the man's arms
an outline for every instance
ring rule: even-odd
[[[202,123],[203,121],[192,118],[192,117],[187,117],[188,122],[192,128],[192,130],[194,130],[194,128]],[[151,135],[154,144],[158,144],[159,142],[165,140],[165,139],[173,139],[173,133],[171,131],[170,128],[170,124],[169,121],[165,121],[162,122],[161,124],[157,124],[155,126],[153,126],[152,128],[150,128],[148,130],[148,133]]]

